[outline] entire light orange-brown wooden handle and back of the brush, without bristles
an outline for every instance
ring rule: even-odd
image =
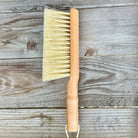
[[[70,9],[70,79],[67,85],[67,131],[78,131],[79,12]]]

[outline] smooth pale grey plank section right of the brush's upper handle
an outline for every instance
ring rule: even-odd
[[[137,15],[137,6],[80,10],[80,56],[138,54]]]

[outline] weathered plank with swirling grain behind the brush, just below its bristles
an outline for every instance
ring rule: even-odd
[[[80,58],[80,106],[138,106],[138,56]],[[0,60],[0,108],[66,107],[68,78],[42,82],[39,59]]]

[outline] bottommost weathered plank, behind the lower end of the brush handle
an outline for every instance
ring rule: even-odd
[[[138,109],[80,109],[80,138],[137,138]],[[0,137],[65,138],[65,109],[0,110]]]

